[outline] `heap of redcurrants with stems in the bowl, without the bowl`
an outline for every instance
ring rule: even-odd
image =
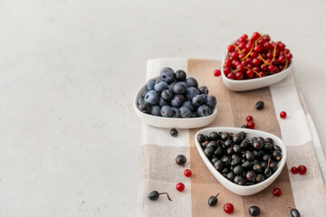
[[[292,60],[292,53],[283,42],[272,42],[268,34],[257,32],[250,39],[244,34],[227,50],[223,71],[231,80],[272,75],[285,70]]]

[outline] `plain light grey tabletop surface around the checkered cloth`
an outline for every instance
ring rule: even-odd
[[[322,0],[0,1],[1,215],[134,216],[131,102],[146,61],[221,59],[243,33],[291,48],[323,141],[325,11]]]

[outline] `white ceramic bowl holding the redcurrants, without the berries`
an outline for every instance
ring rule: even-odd
[[[225,76],[224,73],[223,66],[225,64],[226,57],[227,55],[225,54],[225,57],[222,62],[221,72],[222,72],[222,80],[225,83],[226,88],[228,88],[229,90],[246,91],[246,90],[256,90],[256,89],[264,88],[274,83],[280,82],[293,71],[293,61],[291,61],[291,64],[286,70],[280,71],[273,75],[265,76],[263,78],[256,78],[252,80],[230,80]]]

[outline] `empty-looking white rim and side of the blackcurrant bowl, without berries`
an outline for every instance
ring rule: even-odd
[[[268,179],[264,180],[262,183],[259,183],[259,184],[245,186],[245,185],[235,184],[235,183],[227,180],[223,175],[221,175],[218,171],[216,171],[214,165],[212,165],[212,163],[209,161],[209,159],[205,156],[205,153],[204,153],[202,147],[200,146],[200,144],[197,141],[198,134],[203,134],[203,135],[208,136],[213,131],[216,131],[216,132],[226,131],[226,132],[233,132],[235,134],[238,132],[244,131],[245,133],[247,133],[247,137],[264,137],[264,138],[271,137],[271,138],[273,138],[274,144],[281,147],[282,155],[283,155],[281,161],[278,163],[278,169],[275,171],[275,173],[273,173],[273,175],[271,177],[269,177]],[[204,163],[206,164],[206,166],[210,170],[210,172],[216,177],[216,179],[221,184],[223,184],[225,186],[225,188],[227,188],[228,190],[230,190],[233,193],[243,195],[243,196],[252,195],[254,193],[259,193],[259,192],[263,191],[266,187],[268,187],[270,184],[272,184],[273,181],[275,181],[275,179],[281,174],[283,167],[285,165],[285,162],[286,162],[286,148],[285,148],[285,145],[283,144],[282,139],[280,137],[276,137],[273,134],[266,133],[266,132],[260,131],[260,130],[239,128],[239,127],[210,127],[210,128],[204,128],[204,129],[199,130],[195,136],[195,140],[196,140],[196,146],[197,146],[199,155],[202,157]]]

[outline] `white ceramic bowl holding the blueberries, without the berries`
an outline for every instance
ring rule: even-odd
[[[141,97],[144,90],[147,90],[146,84],[135,95],[133,106],[136,114],[145,124],[161,128],[198,128],[209,125],[216,118],[217,105],[211,115],[202,118],[165,118],[146,114],[141,112],[137,107],[137,100]]]

